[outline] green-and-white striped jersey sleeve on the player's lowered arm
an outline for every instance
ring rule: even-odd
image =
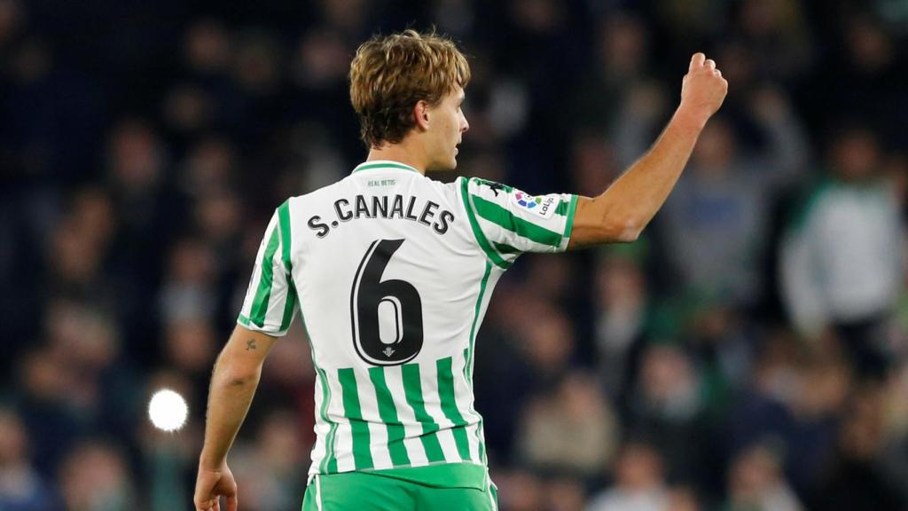
[[[299,308],[291,276],[290,213],[284,203],[271,216],[255,257],[237,323],[269,336],[284,336]]]

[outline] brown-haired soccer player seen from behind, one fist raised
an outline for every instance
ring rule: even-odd
[[[521,253],[636,239],[727,90],[716,63],[694,55],[655,145],[588,198],[429,179],[457,166],[468,82],[467,60],[438,35],[360,46],[350,99],[369,156],[271,217],[214,367],[196,509],[220,509],[219,496],[237,508],[227,453],[298,310],[317,373],[303,510],[497,509],[472,380],[492,289]]]

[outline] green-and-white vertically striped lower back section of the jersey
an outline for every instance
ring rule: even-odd
[[[465,352],[434,366],[350,367],[334,374],[318,369],[313,465],[335,473],[484,464],[468,364]]]

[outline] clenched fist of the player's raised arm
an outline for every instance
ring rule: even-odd
[[[716,62],[701,53],[690,59],[690,68],[681,85],[681,105],[678,110],[706,125],[722,105],[728,92],[728,82],[716,69]]]

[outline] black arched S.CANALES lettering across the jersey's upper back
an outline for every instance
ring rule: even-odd
[[[440,205],[432,201],[423,204],[412,195],[356,195],[353,198],[340,198],[334,201],[334,219],[324,219],[322,215],[312,215],[306,225],[323,238],[331,234],[331,229],[343,222],[363,218],[387,218],[410,220],[426,225],[438,235],[448,232],[454,221],[454,214],[447,209],[439,210]],[[327,216],[327,215],[326,215]]]

